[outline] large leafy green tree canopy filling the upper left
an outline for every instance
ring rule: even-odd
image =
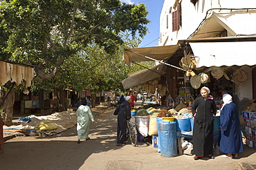
[[[68,75],[71,70],[66,68],[74,61],[77,63],[73,66],[79,68],[80,56],[89,55],[91,44],[104,50],[111,64],[110,59],[124,43],[123,32],[130,32],[131,37],[146,35],[147,13],[143,3],[129,5],[119,0],[1,1],[0,57],[33,65],[38,78],[54,78],[53,81],[60,84],[57,76]],[[97,59],[93,51],[91,55],[94,57],[90,59]],[[87,59],[86,62],[99,61]],[[111,67],[104,69],[115,71]],[[60,70],[62,73],[57,75]],[[102,70],[102,75],[104,73]],[[92,75],[88,78],[100,79]],[[113,78],[114,75],[111,74]]]

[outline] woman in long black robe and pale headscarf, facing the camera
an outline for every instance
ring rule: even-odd
[[[217,106],[213,97],[209,95],[210,89],[203,87],[201,95],[196,98],[192,106],[194,116],[193,127],[193,153],[194,160],[199,160],[204,155],[214,159],[213,153],[213,120]]]

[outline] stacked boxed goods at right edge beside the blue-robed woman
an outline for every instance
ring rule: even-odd
[[[256,103],[255,100],[250,100],[242,111],[244,118],[244,136],[246,144],[249,147],[256,148]]]

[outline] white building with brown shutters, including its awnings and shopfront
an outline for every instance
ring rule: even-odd
[[[255,0],[165,0],[158,46],[126,49],[125,61],[129,64],[153,59],[169,64],[163,67],[165,71],[158,69],[156,75],[160,77],[166,73],[161,80],[158,78],[162,85],[163,81],[167,84],[165,97],[186,97],[190,93],[196,97],[200,86],[209,86],[212,95],[220,97],[221,89],[228,88],[241,110],[249,100],[256,99],[255,21]],[[210,77],[207,83],[196,87],[198,90],[193,89],[188,77],[184,76],[188,67],[184,68],[181,61],[188,55],[196,56],[196,75],[206,73]],[[213,68],[221,70],[221,78],[212,77]],[[124,84],[136,80],[126,87],[150,85],[155,77],[143,76],[149,72],[145,70],[140,76],[129,77]],[[152,86],[156,86],[154,84]]]

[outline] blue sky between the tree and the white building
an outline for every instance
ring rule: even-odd
[[[149,33],[144,37],[142,42],[138,45],[138,48],[143,47],[152,47],[158,45],[158,39],[160,37],[159,32],[159,19],[161,15],[161,10],[163,7],[163,2],[165,0],[120,0],[129,4],[145,3],[147,11],[149,14],[147,15],[147,19],[151,22],[147,24],[147,28]]]

